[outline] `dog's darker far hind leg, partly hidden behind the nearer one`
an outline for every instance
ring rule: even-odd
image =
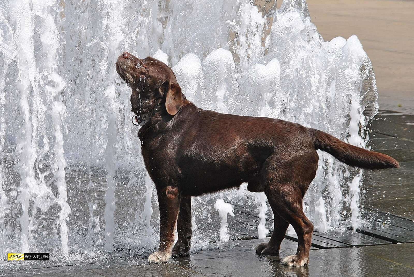
[[[272,207],[272,205],[270,205]],[[289,223],[277,214],[273,209],[274,214],[274,229],[272,237],[268,243],[260,243],[256,246],[256,253],[258,255],[274,255],[279,256],[280,243],[282,243],[286,234]]]

